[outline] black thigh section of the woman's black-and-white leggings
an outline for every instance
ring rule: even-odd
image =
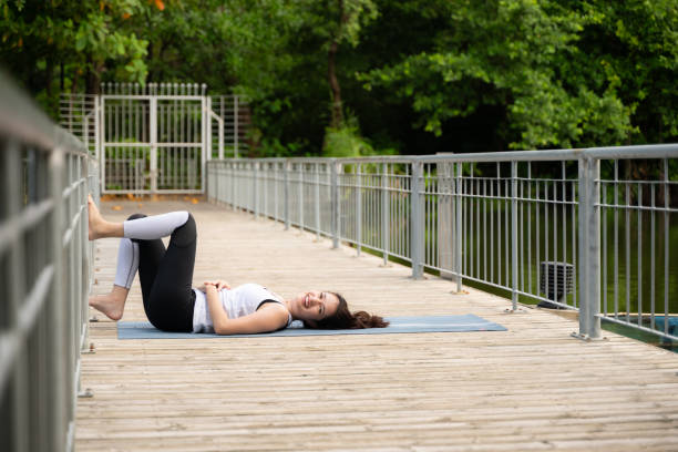
[[[145,216],[134,214],[127,219]],[[195,219],[188,214],[186,223],[172,233],[166,250],[160,238],[132,240],[138,244],[138,279],[144,310],[157,329],[193,331],[195,292],[192,285],[196,237]]]

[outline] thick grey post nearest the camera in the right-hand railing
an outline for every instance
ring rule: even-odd
[[[582,339],[600,337],[600,162],[579,158],[579,333]]]

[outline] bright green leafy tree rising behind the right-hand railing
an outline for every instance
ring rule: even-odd
[[[505,114],[500,134],[511,147],[619,142],[629,132],[628,112],[613,88],[595,92],[582,76],[562,72],[563,62],[577,53],[583,20],[575,12],[532,0],[403,8],[446,18],[432,49],[362,79],[367,89],[384,85],[408,99],[427,131],[440,135],[444,121],[499,105]]]

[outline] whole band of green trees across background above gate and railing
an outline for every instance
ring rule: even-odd
[[[0,23],[52,112],[100,82],[207,83],[250,99],[258,155],[678,138],[675,0],[0,0]]]

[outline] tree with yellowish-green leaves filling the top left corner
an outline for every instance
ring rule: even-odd
[[[146,41],[131,27],[145,0],[0,0],[0,61],[54,113],[60,91],[95,93],[104,73],[119,81],[146,76]],[[164,6],[163,6],[164,7]]]

